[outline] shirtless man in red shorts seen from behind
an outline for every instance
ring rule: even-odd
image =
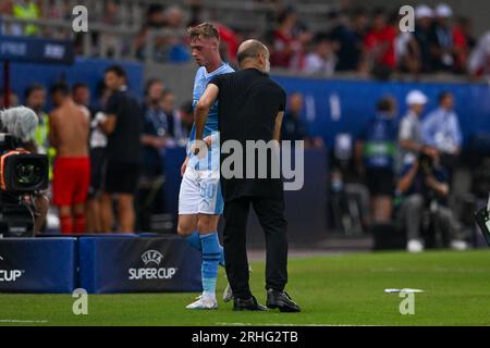
[[[70,88],[51,88],[56,109],[49,122],[49,142],[57,149],[52,181],[53,203],[60,214],[61,233],[85,232],[85,200],[90,184],[88,158],[89,112],[70,97]]]

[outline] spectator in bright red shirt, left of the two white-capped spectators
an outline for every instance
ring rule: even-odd
[[[387,79],[396,67],[395,38],[396,29],[388,23],[385,10],[377,9],[372,27],[364,39],[364,47],[372,74],[378,78]]]

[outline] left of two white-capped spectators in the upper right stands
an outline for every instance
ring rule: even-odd
[[[432,70],[430,55],[430,35],[432,26],[433,11],[428,5],[421,4],[415,9],[415,33],[414,37],[418,45],[421,72],[430,72]]]

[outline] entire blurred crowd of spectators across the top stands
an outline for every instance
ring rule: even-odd
[[[399,8],[346,8],[326,14],[324,28],[310,29],[293,7],[271,2],[277,11],[270,15],[268,29],[261,33],[233,27],[232,23],[217,22],[222,39],[222,57],[235,63],[236,47],[249,37],[267,42],[271,51],[271,65],[306,74],[329,76],[338,72],[356,72],[364,76],[389,78],[393,73],[406,73],[417,78],[420,74],[445,72],[479,77],[490,72],[490,33],[479,40],[474,36],[471,18],[457,16],[446,4],[415,9],[415,30],[400,29]],[[2,1],[0,13],[23,18],[70,18],[66,1],[42,0]],[[46,10],[47,9],[47,10]],[[44,12],[44,11],[45,12]],[[188,26],[209,20],[205,17],[200,1],[183,8],[179,4],[148,4],[140,14],[134,40],[125,45],[135,47],[136,57],[144,59],[149,29],[170,29],[184,33]],[[96,21],[118,25],[121,23],[119,2],[105,1],[102,14]],[[126,15],[127,16],[127,15]],[[35,25],[23,28],[25,35],[52,35]],[[81,44],[77,36],[78,49]],[[114,35],[101,35],[109,47]],[[152,59],[157,62],[186,62],[191,60],[185,35],[169,34],[157,37]],[[125,51],[130,51],[125,47]]]

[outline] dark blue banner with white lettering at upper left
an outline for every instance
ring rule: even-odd
[[[0,60],[72,64],[74,57],[70,41],[0,35]]]

